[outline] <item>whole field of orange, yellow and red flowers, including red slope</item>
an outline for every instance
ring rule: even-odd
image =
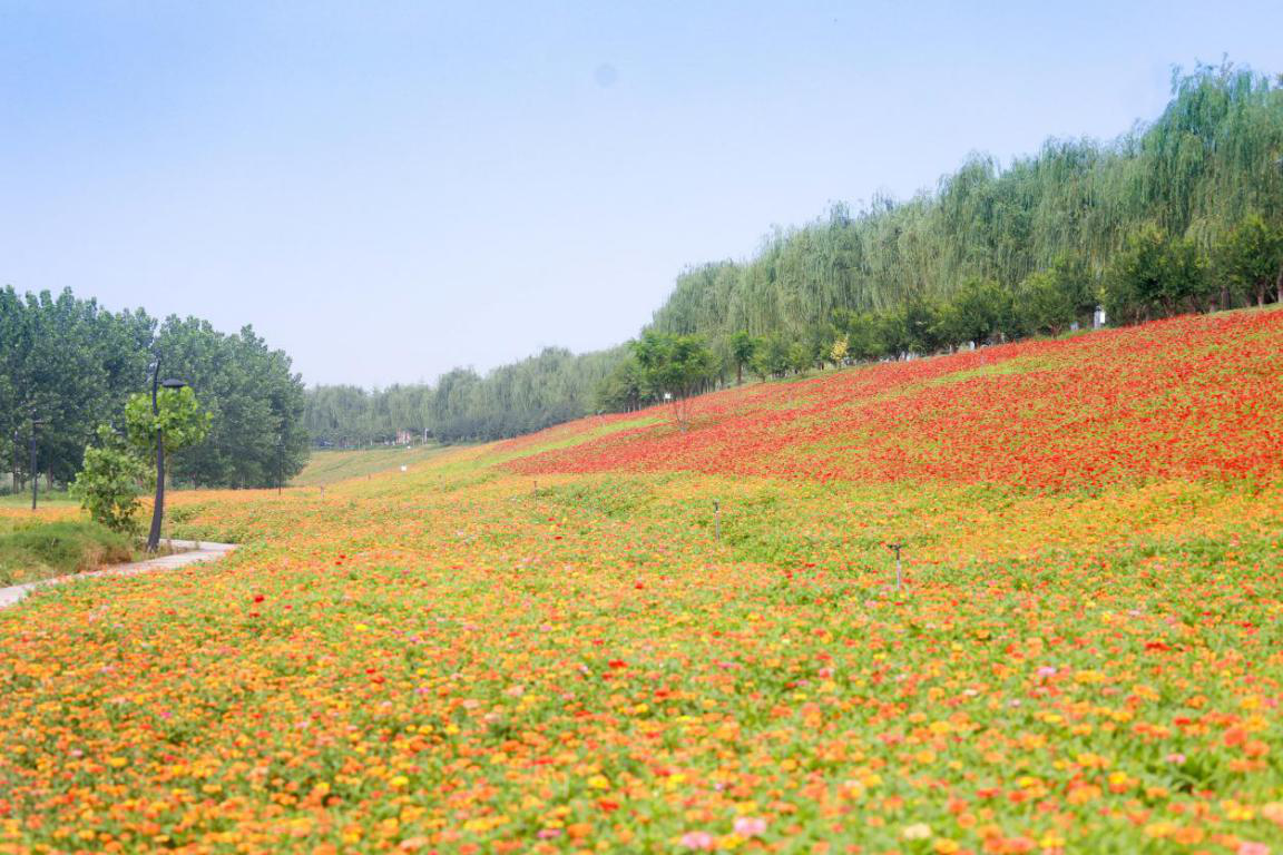
[[[1280,855],[1280,374],[1228,313],[180,494],[244,547],[0,611],[0,852]]]

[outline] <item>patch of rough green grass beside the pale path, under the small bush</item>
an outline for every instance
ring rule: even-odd
[[[0,531],[0,586],[87,573],[132,558],[130,540],[98,523],[19,524]]]

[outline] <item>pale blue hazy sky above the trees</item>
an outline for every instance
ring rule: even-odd
[[[1110,138],[1283,3],[0,0],[0,285],[251,323],[309,383],[626,340],[692,263]]]

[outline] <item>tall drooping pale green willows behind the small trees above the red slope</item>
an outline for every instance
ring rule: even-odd
[[[1280,151],[1278,83],[1230,65],[1200,67],[1175,79],[1157,120],[1114,142],[1052,140],[1005,169],[973,158],[934,194],[876,199],[860,212],[835,205],[802,228],[776,231],[747,263],[693,268],[679,277],[653,327],[701,333],[717,347],[743,331],[806,341],[838,320],[854,359],[931,353],[971,336],[983,341],[996,326],[1014,335],[1007,322],[984,318],[989,308],[962,323],[965,331],[933,332],[920,323],[931,309],[947,315],[966,283],[1001,287],[1006,296],[993,308],[1002,315],[1002,301],[1016,301],[1030,276],[1051,270],[1075,304],[1066,322],[1055,288],[1039,291],[1046,303],[1032,320],[1051,332],[1091,315],[1102,274],[1144,223],[1173,242],[1165,277],[1180,296],[1162,292],[1135,314],[1205,309],[1207,282],[1194,256],[1211,253],[1250,215],[1283,223]],[[1187,240],[1197,253],[1179,244]],[[898,314],[910,303],[916,308]],[[1123,306],[1117,317],[1128,315]],[[1017,332],[1029,322],[1017,318]]]

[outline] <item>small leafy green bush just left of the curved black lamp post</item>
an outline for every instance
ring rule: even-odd
[[[104,424],[98,429],[98,445],[85,449],[85,468],[71,492],[94,522],[113,532],[136,535],[139,496],[149,478],[154,474],[139,449]]]

